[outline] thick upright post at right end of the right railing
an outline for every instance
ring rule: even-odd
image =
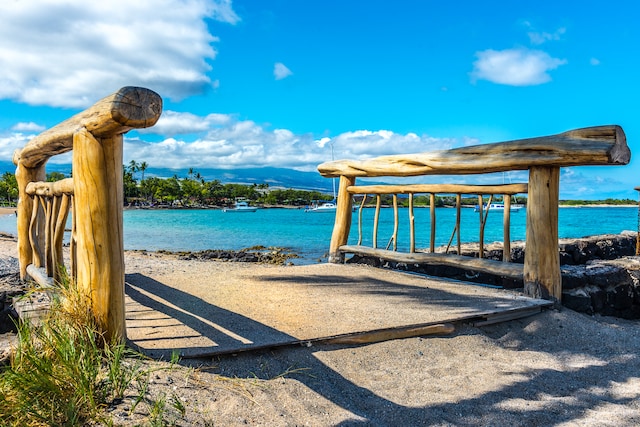
[[[558,251],[558,198],[560,168],[529,169],[524,292],[534,298],[562,299]]]

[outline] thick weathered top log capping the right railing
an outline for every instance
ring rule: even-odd
[[[557,135],[473,145],[369,160],[337,160],[318,166],[327,178],[338,176],[467,175],[532,166],[626,165],[631,159],[620,126],[575,129]]]

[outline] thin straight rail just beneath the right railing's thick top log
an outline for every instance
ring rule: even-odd
[[[465,185],[465,184],[408,184],[408,185],[352,185],[351,194],[521,194],[527,193],[527,184]]]

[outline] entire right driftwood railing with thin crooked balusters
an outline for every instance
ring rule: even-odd
[[[560,168],[585,165],[625,165],[631,152],[621,127],[598,126],[576,129],[558,135],[476,145],[446,151],[434,151],[412,155],[383,156],[370,160],[339,160],[318,166],[328,178],[340,178],[338,206],[329,248],[330,262],[343,262],[345,253],[371,255],[406,263],[447,264],[463,269],[484,271],[491,274],[522,278],[527,295],[546,298],[559,303],[562,295],[560,258],[558,250],[558,197]],[[468,185],[389,185],[356,186],[359,177],[411,177],[420,175],[468,175],[491,172],[529,170],[528,184],[494,187]],[[527,192],[526,251],[524,265],[502,263],[482,258],[463,257],[435,253],[434,222],[435,194],[456,194],[457,204],[461,194],[479,194],[482,206],[483,194],[504,194],[505,201],[505,256],[509,245],[509,195]],[[416,252],[413,242],[413,215],[410,214],[411,239],[408,253],[378,249],[374,236],[373,247],[360,244],[347,245],[351,228],[354,194],[411,194],[429,193],[431,196],[431,247],[428,253]],[[378,196],[377,196],[378,197]],[[378,198],[379,205],[379,198]],[[412,207],[410,206],[410,212]],[[397,215],[396,215],[397,217]],[[377,218],[377,214],[376,217]],[[458,207],[458,237],[459,237]],[[481,219],[481,223],[482,223]],[[374,220],[377,222],[377,220]],[[394,245],[397,234],[394,226]],[[374,233],[377,231],[374,223]],[[482,229],[481,229],[482,230]],[[456,230],[454,230],[454,233]],[[482,237],[482,236],[481,236]],[[452,234],[453,238],[453,234]],[[482,238],[481,238],[482,245]],[[482,251],[482,250],[481,250]],[[458,253],[460,251],[458,250]]]

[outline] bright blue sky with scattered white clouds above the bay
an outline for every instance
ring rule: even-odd
[[[0,159],[136,85],[165,108],[127,134],[125,163],[312,171],[331,146],[363,159],[619,124],[631,164],[563,169],[561,197],[635,199],[637,4],[7,0]]]

